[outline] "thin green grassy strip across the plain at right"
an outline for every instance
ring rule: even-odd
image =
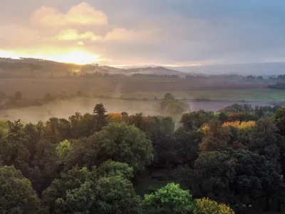
[[[199,91],[152,91],[133,93],[101,93],[103,96],[123,98],[162,98],[165,93],[170,92],[175,97],[185,98],[207,98],[215,101],[257,101],[274,102],[285,101],[285,90],[273,88],[254,88],[237,90],[199,90]]]

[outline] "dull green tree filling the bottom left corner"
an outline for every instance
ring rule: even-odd
[[[36,213],[36,192],[14,166],[0,168],[0,192],[1,213]]]

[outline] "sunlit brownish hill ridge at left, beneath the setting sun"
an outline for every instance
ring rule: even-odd
[[[73,63],[59,63],[46,61],[38,58],[0,58],[0,77],[24,77],[24,76],[72,76],[82,73],[123,73],[132,75],[135,73],[155,75],[178,75],[186,76],[186,73],[164,67],[147,68],[114,68],[100,66],[98,64],[78,65]]]

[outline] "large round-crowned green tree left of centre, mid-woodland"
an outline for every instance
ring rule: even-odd
[[[86,142],[85,161],[89,167],[112,160],[128,163],[137,173],[150,165],[152,158],[152,143],[145,133],[125,123],[111,123]]]

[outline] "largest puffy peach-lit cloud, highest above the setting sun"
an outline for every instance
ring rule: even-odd
[[[58,9],[48,6],[41,6],[33,12],[31,21],[43,26],[66,26],[68,24],[98,25],[108,24],[108,16],[103,11],[98,11],[90,4],[83,2],[64,14]]]

